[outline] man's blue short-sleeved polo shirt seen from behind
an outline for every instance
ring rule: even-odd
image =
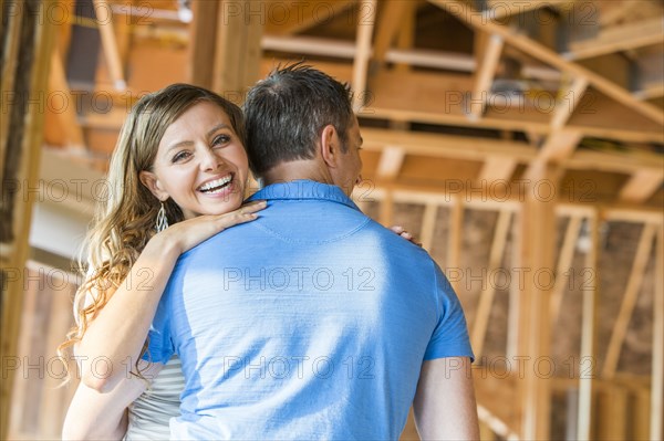
[[[398,439],[422,363],[471,357],[440,269],[339,187],[268,186],[180,256],[149,356],[183,361],[174,439]]]

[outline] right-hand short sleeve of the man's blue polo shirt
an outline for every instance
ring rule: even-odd
[[[425,360],[445,357],[475,359],[461,304],[449,281],[434,262],[438,323],[424,354]]]

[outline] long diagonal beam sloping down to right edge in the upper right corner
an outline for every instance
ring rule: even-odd
[[[515,32],[512,29],[498,24],[492,21],[483,20],[481,13],[473,11],[466,4],[449,0],[430,0],[433,3],[445,9],[447,12],[459,19],[461,22],[471,25],[474,29],[480,29],[486,32],[495,33],[501,36],[506,43],[515,46],[516,49],[525,52],[526,54],[540,60],[553,67],[557,67],[563,72],[569,72],[575,76],[582,76],[588,78],[589,83],[605,94],[606,96],[622,103],[624,106],[641,113],[658,125],[664,125],[664,112],[651,104],[636,99],[629,91],[616,85],[615,83],[606,80],[602,75],[590,71],[587,67],[581,66],[566,60],[560,54],[550,50],[549,48],[538,43],[537,41],[529,39],[522,34]]]

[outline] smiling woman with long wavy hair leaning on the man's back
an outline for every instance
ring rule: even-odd
[[[92,361],[79,366],[82,386],[64,438],[121,438],[128,429],[127,439],[168,439],[168,419],[178,414],[183,389],[177,359],[129,407],[128,420],[121,411],[116,418],[106,414],[102,424],[82,424],[81,412],[94,413],[94,400],[113,399],[94,390],[111,390],[129,369],[137,371],[135,361],[178,256],[256,219],[266,207],[238,210],[248,178],[243,136],[236,105],[191,85],[146,95],[132,109],[111,159],[111,193],[87,240],[89,272],[74,300],[76,326],[61,346],[75,346],[79,360]]]

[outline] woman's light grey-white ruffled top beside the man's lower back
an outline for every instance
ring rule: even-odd
[[[180,359],[170,358],[152,380],[148,390],[128,408],[126,441],[168,440],[170,418],[179,417],[180,393],[185,389],[185,377]]]

